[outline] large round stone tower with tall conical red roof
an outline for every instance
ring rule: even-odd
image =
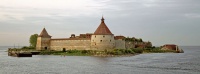
[[[106,26],[104,20],[102,16],[101,24],[91,37],[91,49],[105,50],[115,47],[114,35]]]

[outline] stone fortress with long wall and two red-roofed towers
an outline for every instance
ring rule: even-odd
[[[151,46],[151,42],[126,41],[124,36],[114,36],[104,22],[101,23],[94,33],[71,34],[69,38],[52,39],[44,28],[37,38],[36,50],[109,50],[135,48],[136,44]]]

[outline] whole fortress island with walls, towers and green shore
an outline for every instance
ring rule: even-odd
[[[45,28],[37,35],[32,35],[31,47],[9,49],[9,56],[32,55],[63,55],[63,56],[127,56],[140,53],[183,53],[175,44],[166,44],[155,47],[150,41],[141,38],[115,36],[104,22],[102,17],[100,25],[94,33],[85,33],[69,38],[51,38]],[[37,53],[37,54],[34,54]]]

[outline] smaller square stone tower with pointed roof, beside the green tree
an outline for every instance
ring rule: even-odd
[[[42,32],[37,38],[36,50],[47,50],[50,49],[51,36],[47,33],[46,29],[43,28]]]

